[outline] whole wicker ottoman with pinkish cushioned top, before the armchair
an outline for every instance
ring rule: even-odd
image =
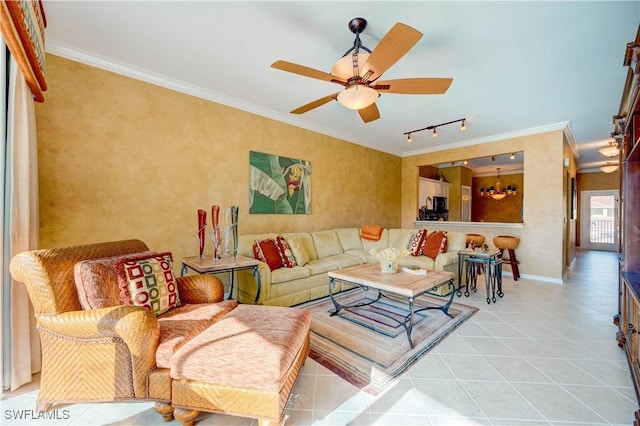
[[[296,308],[239,305],[171,358],[176,420],[192,425],[205,411],[282,424],[310,325]]]

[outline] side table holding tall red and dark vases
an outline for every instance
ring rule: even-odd
[[[233,286],[235,283],[235,272],[241,269],[253,269],[253,277],[258,284],[258,291],[256,292],[256,298],[253,302],[254,305],[258,303],[260,299],[261,280],[260,272],[258,271],[258,265],[260,261],[251,257],[237,255],[237,256],[223,256],[220,259],[213,259],[207,257],[201,259],[199,256],[185,257],[182,259],[182,268],[180,269],[180,276],[184,276],[188,269],[195,271],[199,274],[221,274],[229,272],[230,284],[229,284],[229,299],[233,296]]]

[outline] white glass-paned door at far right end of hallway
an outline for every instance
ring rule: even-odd
[[[618,250],[618,191],[580,192],[580,247]]]

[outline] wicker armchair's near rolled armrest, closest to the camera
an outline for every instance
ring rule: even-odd
[[[119,337],[132,355],[155,349],[160,328],[155,315],[141,306],[70,311],[56,315],[38,315],[38,326],[69,339]]]

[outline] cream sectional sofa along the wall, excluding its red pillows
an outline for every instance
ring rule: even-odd
[[[294,306],[327,296],[327,273],[340,268],[348,268],[363,263],[378,262],[370,251],[394,247],[410,249],[411,243],[421,229],[381,229],[377,239],[364,238],[363,228],[339,228],[313,232],[245,234],[238,238],[238,253],[257,257],[256,241],[284,239],[295,258],[295,266],[279,267],[272,270],[267,262],[261,261],[260,297],[258,303],[275,306]],[[437,230],[427,231],[431,235]],[[366,235],[365,235],[366,236]],[[446,248],[431,258],[425,255],[409,255],[402,258],[400,266],[415,266],[423,269],[449,271],[455,274],[457,287],[458,250],[465,248],[466,234],[446,233]],[[242,303],[253,303],[258,292],[258,281],[251,271],[238,271],[237,299]],[[341,287],[340,287],[341,286]],[[334,291],[351,288],[344,283],[336,283]],[[436,294],[449,294],[448,286],[440,287]]]

